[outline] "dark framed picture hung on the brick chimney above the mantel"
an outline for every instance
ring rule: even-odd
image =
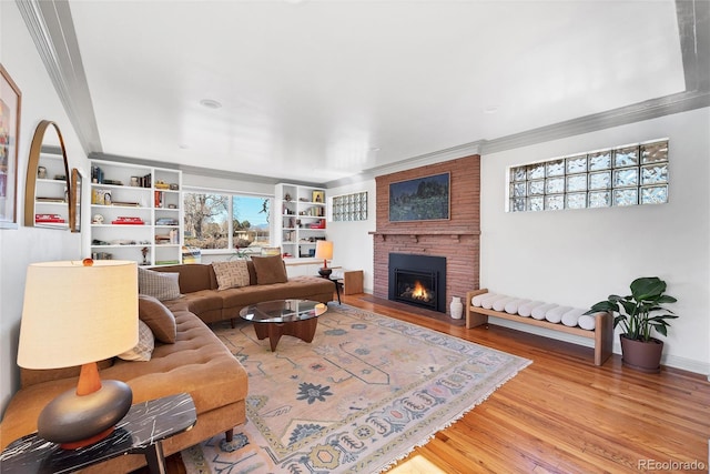
[[[389,221],[448,220],[450,173],[389,184]]]

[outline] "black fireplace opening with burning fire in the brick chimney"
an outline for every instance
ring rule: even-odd
[[[446,313],[446,258],[389,254],[389,300]]]

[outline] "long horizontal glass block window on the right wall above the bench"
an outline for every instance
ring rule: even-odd
[[[510,212],[668,202],[668,140],[513,167]]]

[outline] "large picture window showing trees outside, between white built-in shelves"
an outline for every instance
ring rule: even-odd
[[[271,201],[263,195],[184,192],[185,245],[261,252],[271,246]]]

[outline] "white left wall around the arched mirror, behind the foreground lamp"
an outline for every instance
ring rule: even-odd
[[[19,387],[16,360],[27,266],[32,262],[81,256],[79,234],[21,225],[28,154],[40,120],[58,123],[64,137],[70,169],[85,170],[88,161],[14,2],[0,1],[0,62],[22,92],[18,142],[20,228],[0,230],[0,412],[4,412]]]

